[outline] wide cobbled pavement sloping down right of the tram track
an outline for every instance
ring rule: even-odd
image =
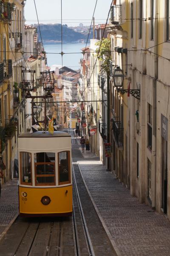
[[[170,256],[170,221],[130,196],[96,161],[79,161],[91,196],[122,256]]]

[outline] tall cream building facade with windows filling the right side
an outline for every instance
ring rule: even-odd
[[[108,25],[113,66],[125,75],[120,90],[112,82],[113,117],[118,113],[121,121],[123,113],[123,147],[112,159],[113,172],[140,202],[168,218],[169,8],[169,0],[116,0]]]

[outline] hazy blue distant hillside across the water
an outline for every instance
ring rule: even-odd
[[[38,25],[34,25],[37,27],[37,32],[40,39],[40,31]],[[42,40],[45,43],[52,42],[61,42],[61,24],[40,24]],[[82,33],[75,32],[73,29],[68,28],[67,25],[62,26],[62,41],[63,43],[72,43],[72,42],[80,42],[81,40],[87,40],[87,35],[83,35]],[[92,34],[90,34],[89,39],[92,38]]]

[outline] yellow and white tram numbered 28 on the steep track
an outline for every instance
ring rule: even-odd
[[[25,132],[18,136],[20,216],[72,214],[71,136]]]

